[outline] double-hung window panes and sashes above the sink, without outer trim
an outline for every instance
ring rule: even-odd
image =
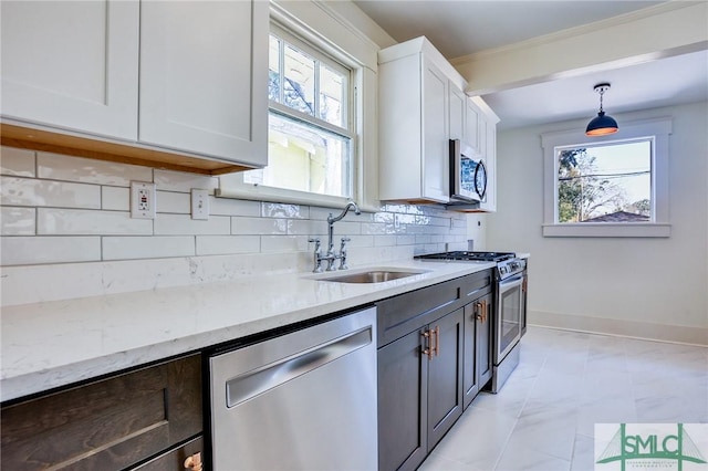
[[[243,182],[353,197],[351,71],[278,27],[269,53],[269,165]]]

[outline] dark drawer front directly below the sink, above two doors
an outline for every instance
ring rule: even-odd
[[[378,347],[455,311],[459,300],[460,281],[452,280],[377,303]]]

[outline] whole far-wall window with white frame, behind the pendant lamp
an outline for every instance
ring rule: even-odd
[[[545,237],[668,237],[670,121],[625,123],[587,138],[548,133],[544,149]]]

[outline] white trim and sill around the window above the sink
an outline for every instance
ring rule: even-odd
[[[272,23],[314,49],[322,50],[352,71],[352,101],[346,108],[353,133],[351,199],[364,211],[379,210],[377,122],[363,118],[376,115],[378,46],[325,4],[271,2],[270,8]],[[309,24],[303,21],[305,18]],[[345,197],[246,184],[242,172],[220,176],[217,196],[330,208],[342,208],[348,200]]]

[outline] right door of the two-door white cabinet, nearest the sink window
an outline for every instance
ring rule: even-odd
[[[144,1],[139,140],[268,163],[268,2]]]

